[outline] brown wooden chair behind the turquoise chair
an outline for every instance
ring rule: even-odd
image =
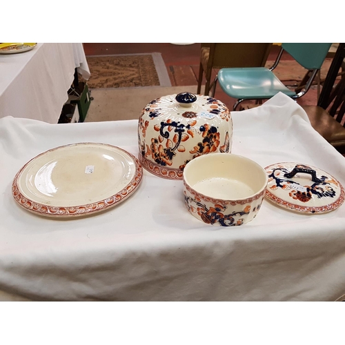
[[[201,43],[199,79],[197,93],[201,92],[201,83],[205,75],[204,95],[215,95],[217,74],[211,81],[214,69],[226,67],[263,67],[273,43]]]

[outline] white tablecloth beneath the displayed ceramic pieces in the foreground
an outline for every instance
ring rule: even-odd
[[[311,164],[345,185],[345,158],[290,98],[279,94],[232,115],[233,153],[263,167]],[[137,121],[0,119],[0,298],[333,301],[345,293],[345,204],[304,215],[265,199],[248,224],[210,226],[186,210],[182,181],[144,171],[130,198],[91,217],[49,219],[18,206],[11,184],[19,168],[45,150],[82,141],[137,156]]]

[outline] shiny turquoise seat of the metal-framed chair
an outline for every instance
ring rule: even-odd
[[[289,90],[268,68],[222,68],[218,73],[222,90],[237,99],[268,99],[283,92],[289,97],[296,93]]]

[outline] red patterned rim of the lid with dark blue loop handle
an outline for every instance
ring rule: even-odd
[[[285,162],[282,162],[279,164],[285,164]],[[275,165],[277,165],[277,164],[271,164],[270,166],[266,166],[265,170],[267,171],[268,169],[270,169],[272,166],[275,166]],[[326,173],[328,174],[328,172],[326,172]],[[328,174],[328,175],[331,176],[330,174]],[[335,181],[337,181],[337,179],[335,179],[334,177],[332,177],[332,178]],[[288,202],[282,198],[277,197],[276,195],[271,193],[270,190],[268,190],[268,188],[266,189],[265,197],[267,197],[267,199],[269,199],[273,203],[277,204],[278,206],[282,206],[283,208],[288,208],[289,210],[294,210],[294,211],[297,211],[299,213],[311,213],[313,215],[317,214],[317,213],[326,213],[326,212],[331,212],[331,211],[335,210],[336,208],[341,206],[342,203],[344,202],[344,199],[345,199],[344,187],[342,186],[342,184],[340,184],[339,181],[337,181],[337,184],[339,185],[339,188],[340,188],[339,198],[337,200],[335,200],[333,203],[328,204],[328,205],[324,205],[324,206],[299,206],[297,204],[293,204],[293,203]]]

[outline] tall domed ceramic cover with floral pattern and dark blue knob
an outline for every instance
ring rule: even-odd
[[[188,161],[231,152],[233,121],[224,103],[182,92],[148,103],[138,125],[139,161],[152,174],[182,179]]]

